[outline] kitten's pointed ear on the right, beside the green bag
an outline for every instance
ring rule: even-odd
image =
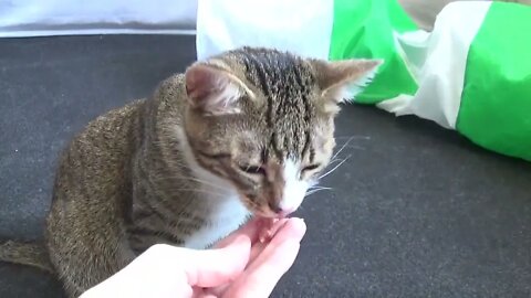
[[[329,104],[354,98],[374,77],[383,60],[312,60],[321,96]]]

